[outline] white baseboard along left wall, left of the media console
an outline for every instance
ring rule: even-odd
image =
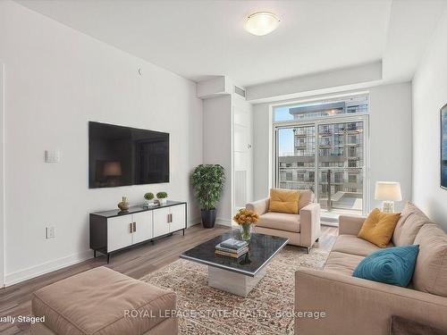
[[[72,264],[78,264],[92,257],[93,251],[88,250],[73,255],[67,255],[65,257],[55,259],[54,261],[34,265],[17,272],[7,273],[4,278],[4,287],[17,284],[21,281],[30,280],[31,278],[62,269],[63,267],[70,266]]]

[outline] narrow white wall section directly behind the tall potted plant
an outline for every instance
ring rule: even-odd
[[[231,225],[232,217],[232,96],[203,101],[203,163],[221,164],[225,186],[217,205],[219,223]]]

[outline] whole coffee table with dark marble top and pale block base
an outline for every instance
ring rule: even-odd
[[[199,244],[180,256],[208,265],[208,285],[232,294],[247,297],[251,289],[266,275],[266,264],[287,244],[289,239],[253,233],[249,252],[239,258],[216,255],[215,246],[225,239],[240,237],[238,230],[224,233]]]

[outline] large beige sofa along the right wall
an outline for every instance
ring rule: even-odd
[[[339,236],[323,271],[296,272],[295,310],[325,317],[297,317],[295,333],[385,335],[393,315],[447,330],[445,232],[415,205],[405,205],[389,247],[418,244],[419,254],[409,288],[401,288],[352,277],[357,264],[379,249],[357,237],[364,220],[340,216]]]

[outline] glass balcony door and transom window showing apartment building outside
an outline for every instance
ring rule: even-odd
[[[363,214],[367,113],[367,95],[275,106],[275,187],[311,189],[327,213]]]

